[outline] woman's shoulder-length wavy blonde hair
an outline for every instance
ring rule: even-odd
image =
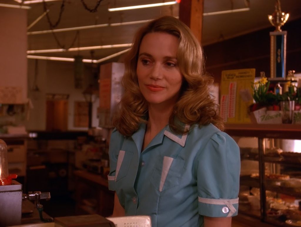
[[[169,16],[152,20],[135,34],[133,45],[125,58],[122,80],[124,95],[113,120],[116,129],[122,135],[131,136],[140,123],[147,123],[148,103],[139,89],[136,69],[141,41],[151,32],[166,32],[179,39],[177,60],[184,79],[180,97],[169,117],[170,129],[178,134],[186,133],[178,123],[180,121],[199,126],[212,123],[223,130],[218,107],[209,95],[213,78],[204,74],[203,50],[191,30],[180,20]]]

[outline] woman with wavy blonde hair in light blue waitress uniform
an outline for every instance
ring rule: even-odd
[[[110,139],[113,216],[152,226],[231,226],[240,155],[220,129],[203,53],[173,17],[141,28],[125,60],[124,95]]]

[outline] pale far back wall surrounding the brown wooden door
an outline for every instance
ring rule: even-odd
[[[26,123],[27,130],[46,129],[46,94],[69,94],[68,99],[68,130],[87,130],[87,128],[74,127],[74,102],[85,101],[83,90],[88,86],[91,70],[85,65],[83,89],[74,88],[74,63],[61,61],[38,60],[38,76],[36,83],[40,92],[33,92],[35,60],[28,60],[28,96],[32,100],[34,109],[30,110],[30,119]],[[93,104],[92,127],[98,126],[97,119],[98,100]]]

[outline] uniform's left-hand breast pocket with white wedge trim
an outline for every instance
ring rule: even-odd
[[[133,152],[131,151],[124,151],[124,150],[119,151],[117,166],[116,166],[116,174],[115,174],[116,182],[126,176],[132,160],[132,156],[133,156]]]

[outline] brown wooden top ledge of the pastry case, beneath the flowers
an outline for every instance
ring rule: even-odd
[[[225,124],[230,136],[301,140],[301,127],[294,124]]]

